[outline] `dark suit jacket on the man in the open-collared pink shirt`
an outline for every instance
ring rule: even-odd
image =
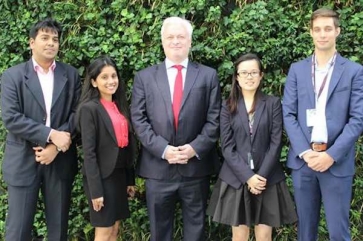
[[[74,114],[80,95],[78,72],[70,65],[56,62],[51,107],[51,128],[75,132]],[[51,128],[45,126],[46,110],[42,88],[32,60],[6,70],[2,75],[1,113],[9,131],[3,159],[4,180],[13,186],[26,186],[36,176],[34,146],[47,145]],[[61,178],[74,178],[77,152],[73,143],[60,152],[51,165],[56,165]]]

